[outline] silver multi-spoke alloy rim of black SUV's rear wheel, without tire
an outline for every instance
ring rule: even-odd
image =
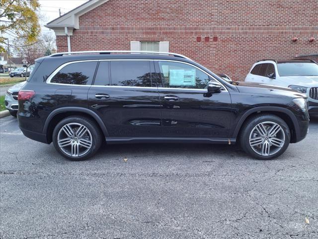
[[[65,154],[79,157],[91,148],[92,136],[83,124],[67,123],[58,133],[58,145]]]

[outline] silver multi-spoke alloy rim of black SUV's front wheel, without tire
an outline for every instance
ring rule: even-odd
[[[249,134],[249,145],[259,155],[270,156],[277,153],[285,144],[285,132],[275,122],[258,123]]]

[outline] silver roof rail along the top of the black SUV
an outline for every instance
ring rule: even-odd
[[[63,56],[63,55],[78,55],[78,54],[111,54],[111,53],[142,53],[142,54],[157,54],[157,55],[172,55],[175,57],[181,57],[184,59],[191,60],[190,58],[177,54],[177,53],[171,53],[171,52],[159,52],[159,51],[69,51],[69,52],[59,52],[52,54],[50,56]]]

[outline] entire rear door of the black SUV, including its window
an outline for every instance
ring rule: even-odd
[[[110,137],[159,135],[161,111],[157,84],[152,82],[154,73],[153,61],[99,64],[95,78],[98,86],[89,89],[88,102],[104,121]]]

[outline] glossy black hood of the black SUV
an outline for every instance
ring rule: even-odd
[[[267,95],[283,95],[290,97],[304,97],[305,94],[299,93],[287,87],[279,87],[273,85],[252,83],[252,82],[237,82],[237,88],[241,93],[267,94]]]

